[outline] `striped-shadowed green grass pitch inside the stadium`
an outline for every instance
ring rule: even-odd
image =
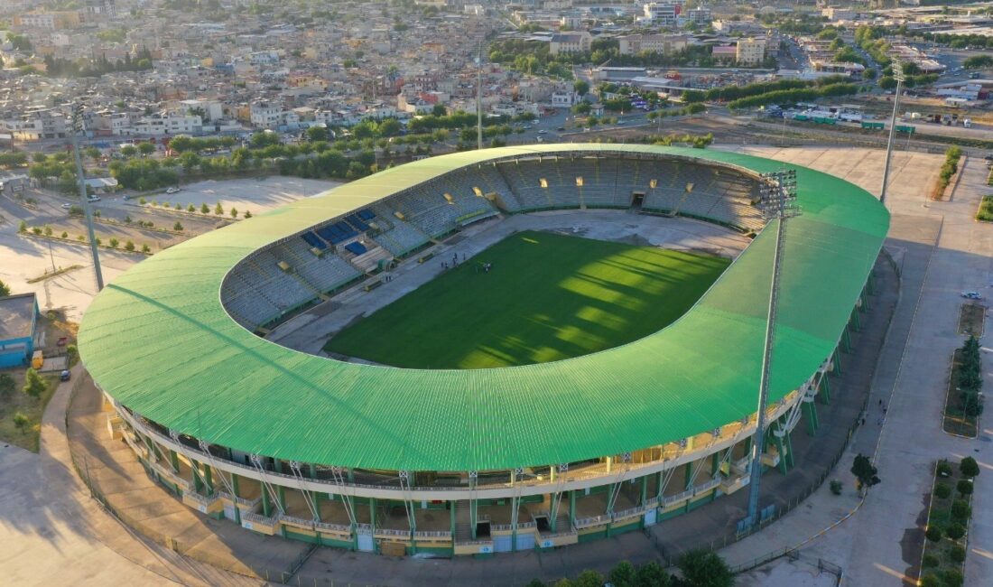
[[[442,262],[441,258],[431,263]],[[729,259],[519,232],[333,337],[325,351],[394,367],[547,363],[671,324]],[[492,263],[489,273],[478,270]]]

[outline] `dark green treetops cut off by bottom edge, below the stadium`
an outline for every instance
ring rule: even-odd
[[[676,566],[681,577],[669,575],[655,561],[635,566],[627,560],[619,562],[605,577],[593,570],[585,570],[575,579],[562,579],[555,587],[732,587],[734,573],[727,563],[714,552],[690,550],[679,557]],[[544,581],[533,579],[527,587],[547,587]]]

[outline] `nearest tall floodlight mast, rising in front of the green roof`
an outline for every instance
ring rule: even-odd
[[[786,170],[763,174],[760,207],[766,220],[776,221],[776,250],[773,253],[773,280],[769,292],[769,313],[766,322],[766,343],[762,355],[762,378],[759,381],[759,411],[755,437],[752,440],[749,466],[748,517],[749,527],[759,524],[759,484],[762,479],[762,453],[766,447],[766,410],[769,407],[769,379],[773,371],[773,344],[776,335],[776,315],[780,298],[780,268],[786,220],[799,216],[796,206],[796,171]],[[768,225],[768,224],[767,224]],[[780,455],[783,458],[783,455]]]

